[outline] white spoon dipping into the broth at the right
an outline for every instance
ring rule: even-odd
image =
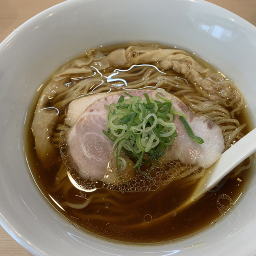
[[[218,184],[232,169],[254,152],[256,152],[256,128],[222,153],[218,161],[212,165],[201,178],[191,200],[197,201],[200,199],[206,192]]]

